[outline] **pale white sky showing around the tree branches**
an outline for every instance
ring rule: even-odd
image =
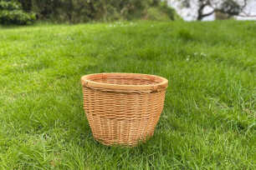
[[[192,0],[197,1],[197,0]],[[181,7],[181,2],[177,0],[167,0],[168,5],[175,8],[177,13],[186,21],[193,21],[197,17],[197,5],[193,5],[190,8]],[[204,13],[211,12],[212,9],[210,7],[206,7]],[[256,0],[248,0],[248,6],[245,8],[246,13],[251,13],[252,15],[256,15]],[[238,20],[256,20],[256,18],[241,18],[236,17]],[[215,19],[214,14],[203,18],[203,21],[213,21]]]

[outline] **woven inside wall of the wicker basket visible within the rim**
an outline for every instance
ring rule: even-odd
[[[90,78],[90,81],[104,82],[108,84],[118,85],[155,85],[160,80],[148,78],[148,77],[121,77],[121,76],[107,76],[107,77],[94,77]]]

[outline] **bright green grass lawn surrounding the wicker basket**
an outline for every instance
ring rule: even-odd
[[[79,78],[169,79],[155,134],[95,142]],[[94,23],[0,28],[0,168],[255,169],[256,23]]]

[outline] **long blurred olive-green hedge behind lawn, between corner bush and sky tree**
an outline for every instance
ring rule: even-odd
[[[37,13],[40,19],[57,22],[84,23],[89,21],[114,21],[146,18],[147,9],[157,7],[156,15],[168,15],[174,19],[171,8],[161,11],[159,0],[20,0],[25,10]],[[170,13],[171,12],[171,13]],[[158,14],[160,13],[160,14]]]

